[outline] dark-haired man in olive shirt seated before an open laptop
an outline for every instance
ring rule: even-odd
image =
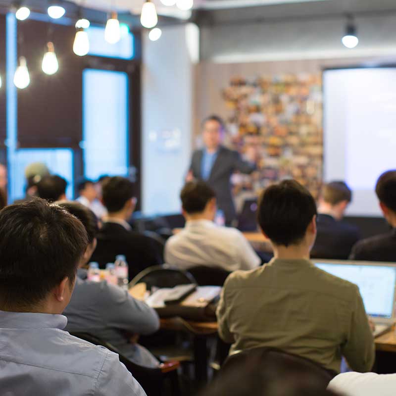
[[[333,373],[344,355],[352,370],[374,363],[374,339],[356,285],[309,260],[316,236],[316,204],[293,180],[268,187],[258,221],[274,258],[233,272],[217,307],[220,337],[231,352],[275,347],[311,359]]]

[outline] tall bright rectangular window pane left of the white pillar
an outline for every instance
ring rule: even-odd
[[[128,173],[128,80],[122,72],[83,72],[83,149],[90,179]]]

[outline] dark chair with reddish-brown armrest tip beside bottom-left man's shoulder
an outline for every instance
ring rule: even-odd
[[[180,396],[179,377],[177,373],[177,369],[180,366],[179,362],[174,361],[161,363],[158,368],[140,366],[129,360],[120,353],[117,348],[113,347],[108,342],[103,341],[90,333],[74,332],[70,334],[81,340],[105,347],[110,351],[117,353],[119,355],[120,362],[125,365],[127,370],[139,382],[148,396],[161,396],[163,394],[164,383],[167,380],[169,380],[171,385],[171,395]]]

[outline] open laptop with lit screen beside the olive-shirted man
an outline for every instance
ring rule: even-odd
[[[374,261],[312,260],[320,269],[359,287],[364,307],[375,323],[374,337],[395,323],[396,264]]]

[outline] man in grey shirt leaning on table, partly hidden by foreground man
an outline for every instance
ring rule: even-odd
[[[87,231],[89,244],[81,260],[81,265],[84,265],[97,244],[98,220],[79,202],[62,201],[57,204],[76,216]],[[136,342],[137,335],[149,335],[158,330],[158,315],[127,291],[106,281],[90,282],[77,277],[73,296],[63,313],[67,317],[67,331],[90,333],[116,347],[134,363],[158,367],[158,360]]]

